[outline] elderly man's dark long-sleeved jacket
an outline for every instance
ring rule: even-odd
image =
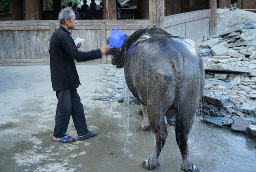
[[[100,50],[81,52],[77,50],[70,32],[60,26],[55,30],[50,40],[51,79],[54,91],[75,89],[80,81],[75,67],[75,61],[88,61],[101,58]]]

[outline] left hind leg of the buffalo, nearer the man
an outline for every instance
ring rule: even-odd
[[[167,130],[164,119],[165,114],[163,114],[162,112],[156,114],[157,111],[150,110],[150,108],[148,108],[147,112],[150,126],[155,137],[155,143],[151,157],[142,163],[142,167],[144,169],[151,170],[156,168],[157,166],[160,166],[159,156],[167,138]]]

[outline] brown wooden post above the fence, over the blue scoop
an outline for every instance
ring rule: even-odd
[[[102,0],[103,19],[115,20],[117,19],[117,5],[116,0]]]

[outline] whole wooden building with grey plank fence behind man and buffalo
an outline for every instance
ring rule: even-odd
[[[59,28],[57,18],[61,0],[53,0],[54,10],[47,12],[52,15],[52,20],[44,19],[46,14],[46,10],[43,9],[44,0],[26,0],[25,14],[23,10],[17,9],[21,5],[20,1],[22,0],[13,0],[13,10],[16,11],[12,18],[15,21],[0,21],[0,65],[49,63],[49,41],[53,31]],[[89,51],[104,45],[106,38],[115,28],[130,35],[138,29],[153,27],[155,24],[156,27],[170,34],[192,40],[201,39],[203,35],[216,34],[216,0],[204,0],[208,3],[200,3],[201,6],[196,6],[197,3],[194,3],[198,0],[190,0],[186,5],[181,1],[183,0],[137,0],[136,8],[132,9],[136,11],[133,15],[137,16],[136,20],[115,20],[116,9],[110,6],[115,6],[116,1],[102,0],[103,6],[109,7],[103,8],[104,19],[78,20],[76,29],[71,30],[71,36],[73,39],[78,36],[85,39],[86,46],[82,46],[80,50]],[[166,4],[171,2],[180,6],[167,8]],[[26,20],[19,20],[22,14]],[[6,51],[10,49],[10,45],[12,51]],[[103,57],[97,60],[92,62],[110,63],[111,58]]]

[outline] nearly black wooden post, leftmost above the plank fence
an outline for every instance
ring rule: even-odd
[[[24,20],[23,0],[12,0],[12,20]]]

